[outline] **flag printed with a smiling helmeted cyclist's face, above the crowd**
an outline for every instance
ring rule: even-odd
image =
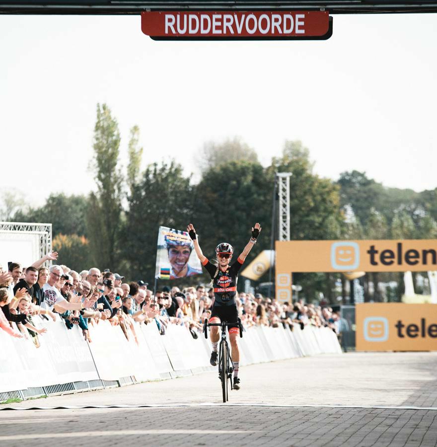
[[[155,278],[172,280],[201,273],[202,265],[189,234],[186,231],[160,226]]]

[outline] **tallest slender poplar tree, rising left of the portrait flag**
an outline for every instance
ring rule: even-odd
[[[91,168],[97,193],[89,197],[87,231],[93,260],[116,269],[118,236],[122,223],[123,177],[119,166],[120,132],[106,104],[97,104],[94,128],[94,158]]]

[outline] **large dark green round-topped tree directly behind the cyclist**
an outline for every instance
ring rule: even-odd
[[[262,231],[246,262],[270,247],[273,181],[260,163],[238,160],[211,168],[196,191],[195,213],[190,221],[200,235],[205,256],[215,257],[216,246],[224,241],[239,254],[257,222]]]

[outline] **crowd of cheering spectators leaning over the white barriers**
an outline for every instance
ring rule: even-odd
[[[214,290],[210,287],[180,290],[164,286],[153,295],[146,282],[127,282],[124,276],[107,270],[93,267],[76,272],[65,265],[45,267],[57,259],[58,253],[51,252],[24,269],[14,262],[7,270],[0,267],[1,330],[13,337],[31,337],[39,347],[47,329],[35,326],[37,318],[62,318],[69,329],[78,325],[88,342],[92,342],[89,327],[108,320],[114,330],[122,330],[128,340],[133,337],[138,343],[134,322],[156,324],[161,335],[169,325],[181,325],[198,338],[211,315]],[[302,300],[279,303],[275,298],[242,292],[237,294],[237,305],[245,328],[283,325],[298,330],[299,326],[312,325],[330,327],[339,336],[341,333],[342,319],[329,307]]]

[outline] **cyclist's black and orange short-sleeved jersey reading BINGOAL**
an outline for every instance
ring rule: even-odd
[[[237,275],[243,262],[239,257],[238,259],[223,272],[218,269],[217,276],[214,275],[217,272],[217,266],[211,264],[208,259],[205,259],[203,266],[208,270],[211,278],[214,279],[214,301],[215,306],[230,306],[235,304],[235,293],[237,291]]]

